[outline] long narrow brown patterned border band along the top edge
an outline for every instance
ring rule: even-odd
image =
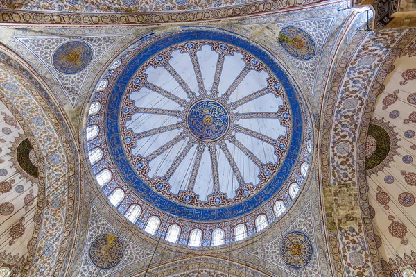
[[[209,10],[178,11],[178,12],[135,12],[135,13],[71,13],[71,12],[26,12],[16,10],[1,10],[0,23],[8,24],[82,24],[82,25],[132,25],[132,24],[161,24],[170,22],[206,22],[218,21],[230,17],[260,15],[267,12],[277,12],[288,8],[310,6],[325,0],[305,0],[302,3],[293,1],[261,1],[241,6],[215,8]]]

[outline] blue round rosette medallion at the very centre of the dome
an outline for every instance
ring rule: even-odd
[[[216,101],[199,101],[189,109],[187,126],[198,140],[213,142],[227,133],[229,127],[227,110]]]

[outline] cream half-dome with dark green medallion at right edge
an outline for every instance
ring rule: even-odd
[[[370,212],[377,247],[385,261],[396,260],[396,255],[411,256],[416,246],[414,45],[403,51],[385,77],[365,150]]]

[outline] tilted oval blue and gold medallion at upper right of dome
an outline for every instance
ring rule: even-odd
[[[311,35],[295,26],[288,26],[281,29],[279,33],[281,46],[291,56],[300,60],[311,60],[316,54],[316,44]]]

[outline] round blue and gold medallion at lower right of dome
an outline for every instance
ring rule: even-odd
[[[313,255],[311,239],[301,231],[288,233],[280,242],[280,255],[288,267],[293,269],[306,267]]]

